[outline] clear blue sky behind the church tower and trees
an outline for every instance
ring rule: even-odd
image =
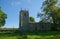
[[[42,3],[44,0],[0,0],[2,11],[7,14],[6,24],[3,28],[18,28],[19,27],[19,12],[21,9],[28,10],[29,16],[37,18],[37,13],[41,12]]]

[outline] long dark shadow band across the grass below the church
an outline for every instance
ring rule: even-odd
[[[4,36],[4,35],[8,35],[8,36],[15,36],[15,35],[40,35],[40,36],[48,36],[48,35],[60,35],[60,31],[27,31],[27,32],[14,32],[14,33],[0,33],[0,36]]]

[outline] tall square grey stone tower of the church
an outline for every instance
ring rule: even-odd
[[[19,15],[19,29],[26,31],[29,26],[29,12],[27,10],[21,10]]]

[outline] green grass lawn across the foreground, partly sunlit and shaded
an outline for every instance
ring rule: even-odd
[[[0,33],[0,39],[60,39],[60,31]]]

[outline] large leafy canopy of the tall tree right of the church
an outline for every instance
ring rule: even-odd
[[[55,28],[57,24],[60,24],[60,7],[57,6],[58,0],[45,0],[42,4],[43,15],[40,14],[40,17],[44,16],[45,21],[53,22]]]

